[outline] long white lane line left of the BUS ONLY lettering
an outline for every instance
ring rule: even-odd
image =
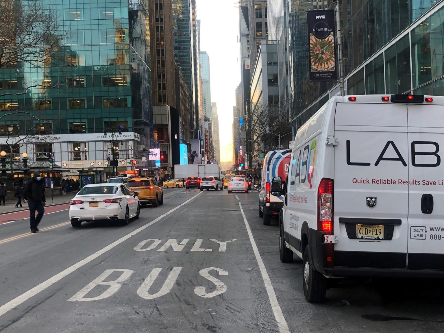
[[[9,301],[5,305],[0,306],[0,316],[2,316],[5,313],[7,313],[8,311],[14,309],[16,306],[22,304],[23,302],[28,301],[28,299],[30,299],[31,297],[36,296],[38,293],[44,291],[45,289],[47,289],[48,287],[50,287],[51,285],[53,285],[57,281],[61,280],[63,277],[66,277],[67,275],[71,274],[75,270],[78,270],[79,268],[85,266],[88,262],[93,261],[94,259],[98,258],[102,254],[108,252],[109,250],[115,248],[119,244],[125,242],[127,239],[133,237],[136,234],[139,234],[139,232],[145,230],[147,227],[152,226],[156,222],[160,221],[162,218],[164,218],[168,214],[171,214],[172,212],[174,212],[174,210],[177,210],[178,208],[186,205],[188,202],[190,202],[191,200],[196,198],[201,193],[202,192],[199,192],[198,194],[194,195],[194,197],[188,199],[186,202],[183,202],[182,204],[174,207],[172,210],[168,211],[167,213],[160,215],[155,220],[145,224],[144,226],[141,226],[139,229],[134,230],[133,232],[127,234],[126,236],[119,238],[117,241],[111,243],[108,246],[105,246],[102,250],[99,250],[99,251],[95,252],[94,254],[91,254],[89,257],[77,262],[76,264],[72,265],[71,267],[68,267],[67,269],[61,271],[59,274],[56,274],[53,277],[50,277],[48,280],[40,283],[40,285],[36,285],[34,288],[29,289],[27,292],[22,293],[20,296],[17,296],[16,298],[14,298],[12,301]]]

